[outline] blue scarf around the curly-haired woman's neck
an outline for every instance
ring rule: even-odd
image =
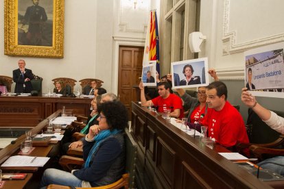
[[[113,129],[113,131],[110,131],[109,129],[107,130],[103,130],[100,131],[99,134],[97,134],[97,136],[95,136],[95,144],[93,145],[92,149],[90,150],[90,152],[88,153],[88,157],[86,159],[86,163],[84,164],[84,168],[88,168],[92,159],[92,155],[93,153],[95,153],[95,151],[97,150],[97,148],[99,147],[99,144],[102,142],[102,140],[104,140],[105,138],[108,138],[108,136],[111,135],[115,135],[117,133],[119,133],[120,131],[122,131],[121,129]]]

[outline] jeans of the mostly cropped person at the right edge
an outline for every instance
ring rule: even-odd
[[[284,156],[276,156],[267,160],[264,160],[257,164],[261,168],[265,168],[276,173],[279,175],[284,175]]]

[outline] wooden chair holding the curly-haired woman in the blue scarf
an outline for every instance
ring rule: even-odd
[[[128,131],[125,129],[125,143],[126,143],[126,174],[123,174],[121,179],[116,181],[113,184],[109,184],[107,186],[100,186],[100,187],[93,187],[93,188],[134,188],[134,173],[135,173],[135,164],[137,159],[137,143],[135,142],[134,138]],[[62,166],[64,170],[72,170],[75,167],[82,165],[84,160],[79,157],[70,157],[67,155],[63,155],[60,160],[59,164]],[[62,186],[51,184],[47,188],[61,188]],[[68,187],[67,187],[68,188]]]

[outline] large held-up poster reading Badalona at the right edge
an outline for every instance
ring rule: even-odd
[[[252,95],[284,98],[284,42],[244,53],[245,86]]]

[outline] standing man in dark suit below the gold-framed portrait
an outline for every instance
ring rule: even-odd
[[[25,68],[25,60],[19,60],[19,69],[13,71],[13,81],[16,83],[15,93],[30,93],[32,91],[32,83],[34,79],[32,70]]]

